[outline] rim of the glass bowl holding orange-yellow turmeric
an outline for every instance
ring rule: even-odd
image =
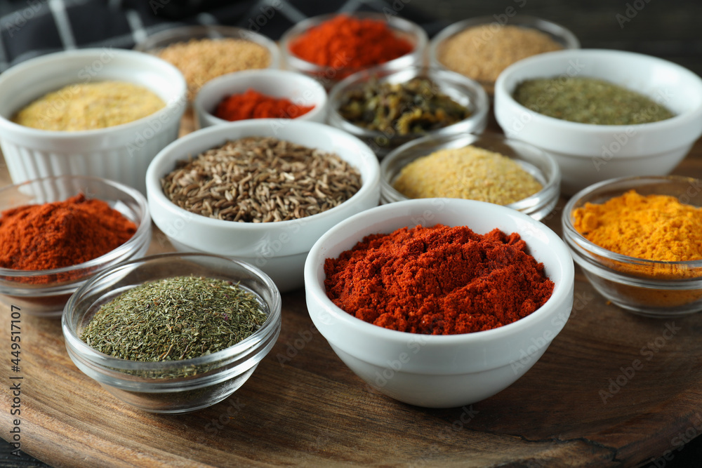
[[[595,192],[596,190],[602,189],[603,187],[607,187],[609,185],[616,185],[621,182],[634,182],[636,180],[640,180],[641,182],[646,182],[647,180],[658,180],[661,182],[664,181],[670,181],[670,182],[696,182],[698,185],[702,183],[702,180],[696,179],[696,178],[691,178],[687,177],[686,175],[625,175],[623,177],[618,177],[618,178],[613,178],[613,179],[607,179],[607,180],[602,180],[601,182],[597,182],[595,184],[589,185],[588,187],[585,187],[584,189],[581,189],[579,192],[571,196],[571,198],[568,200],[566,205],[563,208],[563,213],[561,215],[561,222],[563,225],[563,235],[565,238],[572,239],[578,244],[584,244],[585,246],[588,246],[588,249],[590,251],[584,250],[581,246],[578,246],[579,248],[583,249],[586,253],[588,253],[587,257],[590,260],[595,260],[592,258],[592,253],[595,255],[600,255],[603,258],[607,258],[609,260],[614,260],[616,262],[621,262],[625,263],[628,265],[642,265],[646,267],[651,267],[651,266],[664,266],[664,267],[670,267],[670,266],[680,266],[680,267],[687,267],[687,268],[702,268],[702,260],[681,260],[681,261],[665,261],[665,260],[647,260],[645,258],[637,258],[637,257],[631,257],[630,255],[623,255],[621,253],[616,253],[612,252],[611,250],[607,250],[604,247],[598,246],[596,243],[588,240],[581,234],[580,232],[575,229],[573,226],[573,223],[571,222],[571,212],[574,209],[574,206],[578,201],[581,201],[584,196],[590,195],[592,192]],[[612,197],[610,197],[612,198]],[[600,265],[602,267],[602,262],[597,262],[597,265]],[[607,268],[609,269],[609,268]],[[621,272],[617,272],[618,274],[621,274]],[[661,281],[660,279],[653,279],[654,281]],[[699,281],[700,278],[689,278],[689,279],[676,279],[676,280],[665,280],[665,283],[670,283],[671,281]]]

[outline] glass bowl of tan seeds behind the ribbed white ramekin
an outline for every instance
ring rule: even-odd
[[[260,62],[256,50],[248,46],[245,51],[228,51],[225,55],[218,55],[226,48],[222,43],[204,42],[197,45],[197,50],[188,47],[190,41],[218,41],[220,39],[237,39],[247,41],[265,48],[267,52],[267,65]],[[232,44],[229,44],[230,46]],[[148,36],[134,46],[135,51],[157,55],[169,46],[183,46],[180,51],[167,51],[168,58],[176,65],[187,81],[188,99],[193,100],[199,89],[204,84],[217,76],[239,72],[246,69],[278,68],[280,66],[280,53],[277,44],[263,34],[235,26],[222,25],[192,25],[165,29]],[[182,54],[187,55],[185,58]]]

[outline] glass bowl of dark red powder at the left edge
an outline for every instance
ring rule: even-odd
[[[60,316],[88,279],[141,258],[151,241],[145,197],[87,175],[0,189],[0,302],[13,312]]]

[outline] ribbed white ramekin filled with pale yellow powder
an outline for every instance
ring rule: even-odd
[[[13,121],[55,91],[48,105],[30,111],[27,123],[42,128]],[[134,51],[64,51],[15,65],[0,76],[0,147],[13,182],[95,175],[144,193],[150,161],[178,137],[185,91],[178,69]]]

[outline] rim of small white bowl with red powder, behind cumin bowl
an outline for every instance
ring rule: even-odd
[[[192,101],[192,106],[194,107],[196,112],[201,112],[202,114],[205,114],[208,116],[209,119],[212,119],[212,121],[215,121],[217,123],[230,123],[231,121],[225,120],[225,119],[220,119],[219,117],[215,116],[211,112],[208,112],[204,106],[202,105],[202,100],[204,99],[205,95],[209,92],[210,88],[215,88],[216,86],[220,86],[222,83],[227,83],[227,81],[234,81],[239,78],[250,78],[250,77],[256,77],[256,76],[262,76],[262,77],[270,77],[270,78],[275,78],[279,77],[279,79],[286,79],[286,78],[293,78],[294,79],[300,79],[302,81],[305,81],[304,86],[309,86],[310,88],[314,88],[314,93],[315,95],[319,95],[321,100],[317,102],[314,105],[314,109],[310,110],[307,114],[303,114],[305,116],[311,116],[310,114],[314,113],[319,113],[319,112],[324,112],[326,110],[326,102],[328,100],[326,91],[324,91],[324,86],[322,86],[319,81],[313,79],[311,76],[307,76],[305,74],[302,74],[300,72],[295,72],[293,70],[284,70],[284,69],[279,69],[279,68],[261,68],[261,69],[248,69],[248,70],[241,70],[239,72],[232,72],[232,73],[227,73],[223,74],[220,76],[217,76],[216,78],[211,79],[210,81],[207,81],[202,87],[199,89],[197,92],[197,95],[195,95],[195,99]],[[302,87],[303,85],[300,85]],[[252,88],[255,88],[252,86]],[[231,95],[231,92],[227,91],[227,93],[223,94],[223,98],[226,97],[227,95]],[[301,116],[300,116],[301,117]],[[253,119],[246,119],[246,120],[253,120]],[[258,119],[257,119],[258,120]],[[294,119],[291,119],[294,120]]]

